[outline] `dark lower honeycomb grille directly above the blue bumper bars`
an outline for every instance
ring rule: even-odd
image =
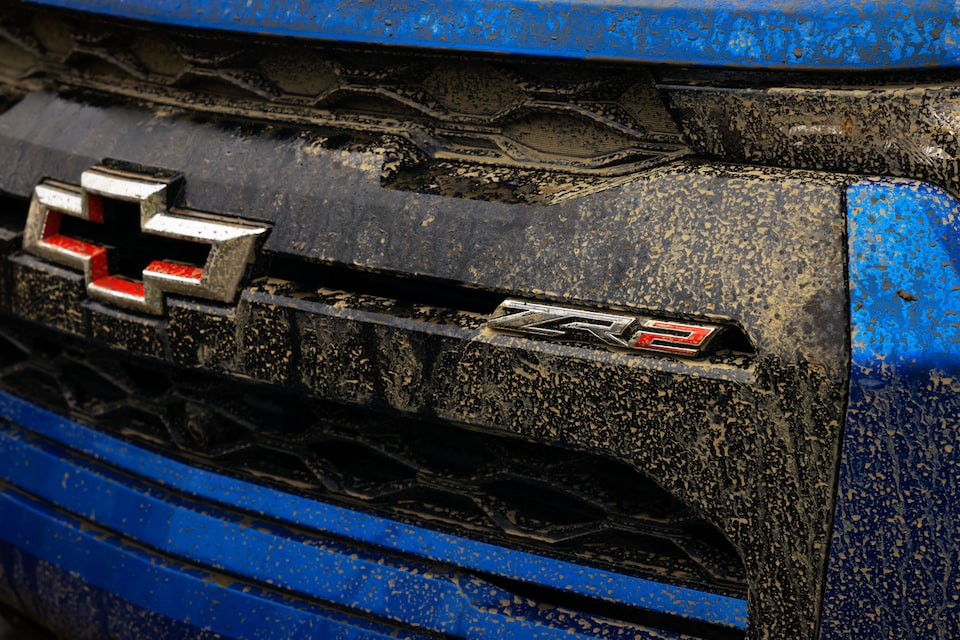
[[[576,564],[744,597],[736,550],[626,464],[334,405],[0,326],[0,389],[245,479]]]

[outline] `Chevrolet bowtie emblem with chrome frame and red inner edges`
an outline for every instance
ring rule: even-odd
[[[82,270],[90,297],[128,309],[163,313],[165,293],[232,302],[267,227],[172,208],[181,180],[163,170],[113,164],[84,171],[79,187],[45,180],[33,191],[23,249]],[[113,226],[120,232],[101,243],[91,240],[96,233],[71,231],[84,225],[88,231]],[[171,255],[130,255],[144,253],[125,246],[140,233],[170,239],[163,244],[155,238],[159,251],[199,257],[190,263]],[[178,245],[189,246],[178,251]],[[131,273],[131,264],[139,273]]]

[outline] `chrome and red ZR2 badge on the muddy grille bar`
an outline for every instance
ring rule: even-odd
[[[553,340],[687,357],[702,356],[723,330],[721,325],[584,311],[512,299],[504,300],[497,307],[487,326],[497,331]]]

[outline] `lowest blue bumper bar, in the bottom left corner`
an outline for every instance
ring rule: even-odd
[[[0,595],[19,591],[20,608],[78,637],[396,637],[390,627],[160,558],[9,488],[0,490],[0,521]]]

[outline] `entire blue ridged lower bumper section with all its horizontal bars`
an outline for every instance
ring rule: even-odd
[[[125,637],[151,625],[201,637],[559,638],[576,625],[625,633],[603,631],[599,617],[531,611],[470,571],[745,624],[734,598],[404,526],[171,462],[9,395],[0,406],[2,593],[38,617],[72,621],[60,629],[69,635],[74,624]]]

